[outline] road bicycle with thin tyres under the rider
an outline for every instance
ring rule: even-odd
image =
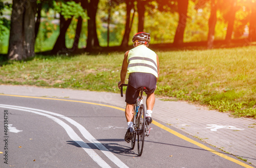
[[[121,97],[123,97],[123,86],[128,86],[127,84],[122,84],[120,86]],[[135,148],[136,135],[137,135],[137,145],[138,145],[138,154],[142,155],[144,147],[144,138],[145,136],[150,135],[151,127],[148,128],[147,123],[145,122],[145,106],[143,104],[143,92],[146,91],[146,88],[139,88],[140,94],[134,104],[134,117],[133,117],[133,133],[131,139],[132,150]],[[135,122],[134,122],[135,120]]]

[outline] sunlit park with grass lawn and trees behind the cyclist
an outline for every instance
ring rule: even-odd
[[[145,31],[163,100],[256,117],[254,0],[1,0],[0,15],[0,83],[119,92]]]

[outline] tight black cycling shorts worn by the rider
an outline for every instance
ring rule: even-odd
[[[157,78],[151,73],[133,72],[129,75],[128,86],[125,93],[125,102],[135,104],[139,96],[141,87],[147,89],[146,94],[155,92],[157,86]]]

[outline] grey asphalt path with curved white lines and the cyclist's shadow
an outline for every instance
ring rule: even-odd
[[[139,157],[124,141],[124,111],[96,103],[0,95],[0,167],[250,167],[160,121]]]

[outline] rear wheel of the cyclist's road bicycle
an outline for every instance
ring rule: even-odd
[[[142,151],[143,151],[143,146],[144,146],[144,138],[145,138],[145,107],[144,104],[142,104],[139,107],[139,114],[138,114],[138,120],[137,120],[137,125],[138,125],[138,138],[137,138],[137,142],[138,142],[138,153],[139,156],[142,155]]]

